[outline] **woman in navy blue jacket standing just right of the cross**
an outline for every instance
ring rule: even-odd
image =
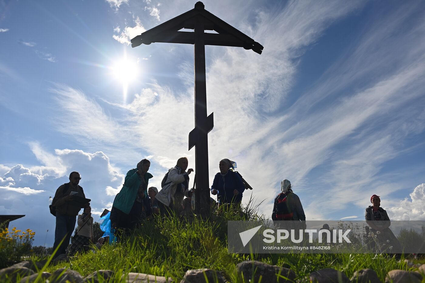
[[[220,161],[220,172],[215,174],[212,181],[211,193],[217,195],[219,204],[241,204],[244,193],[244,183],[238,173],[230,170],[235,169],[235,162],[225,158]]]

